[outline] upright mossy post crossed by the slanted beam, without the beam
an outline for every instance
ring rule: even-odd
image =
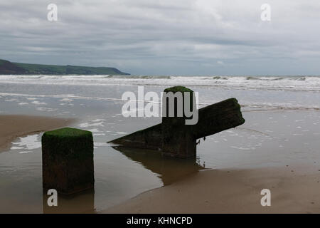
[[[193,107],[193,90],[175,86],[166,88],[164,92],[181,93],[182,104],[179,100],[174,100],[174,116],[169,116],[169,101],[166,102],[166,114],[162,117],[162,153],[171,157],[193,157],[196,156],[196,139],[193,138],[193,125],[186,125],[186,116],[184,115],[185,93],[190,93],[190,106]],[[177,107],[180,105],[183,115],[178,116]],[[171,107],[172,108],[172,107]],[[191,108],[192,110],[192,108]]]

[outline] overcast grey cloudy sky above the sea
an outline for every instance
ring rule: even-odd
[[[134,75],[319,76],[319,28],[319,0],[0,0],[0,58]]]

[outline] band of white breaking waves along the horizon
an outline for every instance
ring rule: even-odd
[[[0,76],[0,83],[75,86],[192,86],[320,92],[319,76]]]

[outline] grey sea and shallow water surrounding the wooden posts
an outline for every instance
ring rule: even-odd
[[[138,85],[145,93],[188,86],[198,92],[200,107],[235,97],[246,123],[201,139],[193,160],[114,147],[106,142],[161,123],[122,116],[122,93],[137,94]],[[78,118],[73,127],[91,130],[95,140],[95,192],[59,197],[52,211],[42,191],[41,134],[18,138],[0,152],[0,212],[100,212],[204,168],[302,164],[319,170],[319,100],[317,77],[0,76],[0,114]]]

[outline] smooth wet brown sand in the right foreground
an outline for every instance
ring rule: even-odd
[[[207,170],[144,192],[103,213],[319,213],[320,170]],[[271,191],[262,207],[261,190]]]

